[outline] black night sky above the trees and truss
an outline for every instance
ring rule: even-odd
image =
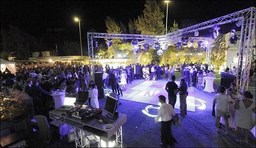
[[[165,14],[166,3],[158,3]],[[64,35],[65,39],[79,42],[78,24],[73,17],[82,19],[82,38],[86,40],[86,32],[90,29],[106,32],[106,16],[128,26],[129,18],[142,14],[144,4],[145,1],[1,1],[1,28],[8,28],[8,24],[16,25],[36,38],[49,33],[47,28],[65,28],[64,32],[51,34]],[[179,28],[184,28],[252,6],[256,6],[255,1],[171,1],[168,28],[174,19]]]

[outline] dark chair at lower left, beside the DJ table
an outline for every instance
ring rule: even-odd
[[[51,129],[48,124],[47,118],[42,115],[37,115],[35,117],[37,125],[39,127],[39,136],[45,144],[50,144],[51,142]]]

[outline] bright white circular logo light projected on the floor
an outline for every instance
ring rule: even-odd
[[[199,101],[199,103],[200,103],[200,104],[195,104],[195,106],[196,106],[198,109],[200,109],[200,110],[206,109],[206,105],[205,105],[206,101],[201,100],[201,99],[198,99],[198,98],[195,98],[195,100]],[[190,103],[188,102],[188,104],[190,104]],[[160,103],[159,103],[159,105],[160,105]],[[157,110],[159,110],[159,109],[160,109],[160,106],[156,107],[156,106],[153,106],[153,105],[147,105],[146,108],[145,108],[144,110],[142,110],[142,113],[145,114],[145,115],[147,115],[147,116],[150,116],[150,117],[152,117],[152,118],[156,118],[156,116],[157,116],[157,111],[154,111],[155,114],[152,114],[152,112],[153,112],[152,109],[157,109]]]

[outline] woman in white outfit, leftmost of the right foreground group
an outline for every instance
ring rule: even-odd
[[[215,113],[216,113],[216,127],[218,133],[220,133],[220,117],[222,116],[225,119],[225,130],[226,134],[228,134],[228,118],[226,116],[229,113],[229,103],[232,104],[232,99],[229,95],[225,95],[226,88],[224,86],[220,86],[220,93],[214,96],[213,103],[215,103]]]

